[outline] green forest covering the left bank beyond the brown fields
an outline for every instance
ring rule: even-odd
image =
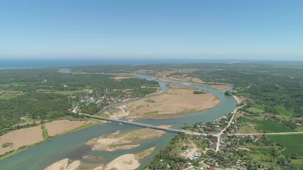
[[[157,81],[141,78],[116,80],[114,75],[59,73],[59,69],[3,69],[0,70],[0,136],[22,128],[13,126],[33,120],[51,120],[67,115],[70,94],[85,93],[83,89],[113,92],[114,89],[135,89],[134,97],[154,93],[157,88],[141,88],[142,85],[158,87]],[[119,93],[119,91],[115,92]],[[94,114],[102,108],[91,103],[84,108]],[[24,125],[25,126],[25,125]]]

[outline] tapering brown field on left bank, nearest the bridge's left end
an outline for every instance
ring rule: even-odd
[[[61,134],[63,132],[78,128],[83,124],[95,123],[94,121],[69,121],[69,120],[55,120],[45,123],[45,128],[49,136]]]

